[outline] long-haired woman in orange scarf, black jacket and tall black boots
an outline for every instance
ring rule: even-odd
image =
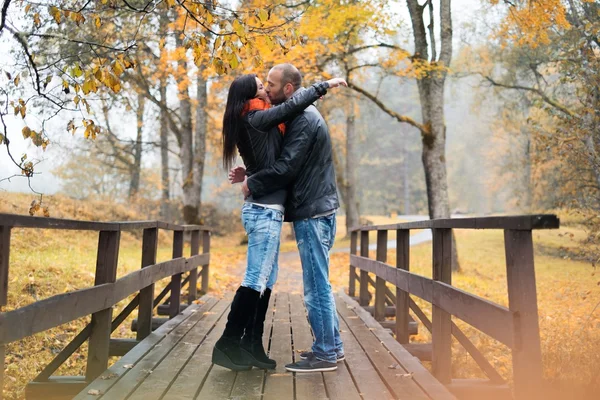
[[[265,88],[254,74],[236,78],[229,88],[223,116],[223,165],[229,169],[239,151],[246,175],[275,163],[281,152],[284,121],[292,119],[323,96],[330,87],[346,85],[331,79],[299,90],[284,103],[269,107]],[[262,345],[264,321],[271,289],[277,280],[279,236],[283,224],[286,191],[261,198],[249,197],[242,207],[248,235],[248,265],[236,291],[227,325],[215,344],[212,362],[234,371],[252,366],[274,369]]]

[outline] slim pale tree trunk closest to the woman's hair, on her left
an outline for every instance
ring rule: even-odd
[[[206,130],[207,130],[207,93],[206,79],[203,75],[204,67],[198,69],[196,99],[196,135],[194,137],[194,196],[196,196],[196,207],[198,220],[202,209],[202,179],[204,178],[204,164],[206,159]],[[201,222],[201,221],[199,221]]]

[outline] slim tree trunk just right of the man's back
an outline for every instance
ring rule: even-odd
[[[354,115],[354,104],[350,105],[350,113],[346,118],[346,172],[344,179],[344,190],[346,192],[346,236],[350,236],[350,229],[358,226],[360,217],[358,210],[358,198],[356,196],[356,167],[358,158],[356,155],[356,124]]]

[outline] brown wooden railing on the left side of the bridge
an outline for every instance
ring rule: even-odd
[[[71,398],[108,367],[110,356],[125,354],[152,331],[152,315],[169,295],[169,317],[180,312],[181,289],[189,284],[188,301],[196,300],[198,267],[201,289],[208,291],[210,229],[199,225],[175,225],[161,221],[90,222],[56,218],[0,214],[0,307],[7,305],[9,290],[9,251],[13,228],[41,228],[97,231],[98,253],[94,286],[37,301],[0,313],[0,399],[4,382],[6,344],[92,316],[79,334],[27,386],[27,398]],[[159,229],[173,232],[173,258],[156,262]],[[141,269],[117,279],[117,262],[121,232],[143,230]],[[190,237],[190,256],[183,256],[184,233]],[[200,246],[202,253],[200,254]],[[182,282],[182,275],[188,273]],[[154,284],[170,278],[170,283],[154,298]],[[135,298],[113,319],[112,308],[130,295]],[[138,308],[136,339],[111,339],[125,319]],[[59,377],[52,374],[89,339],[86,374],[82,377]],[[52,397],[54,398],[54,397]]]

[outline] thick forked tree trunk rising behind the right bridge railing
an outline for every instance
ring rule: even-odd
[[[439,60],[435,59],[435,39],[433,33],[435,18],[430,8],[430,41],[432,59],[429,60],[427,33],[423,21],[423,13],[429,3],[419,5],[418,0],[407,0],[411,16],[413,36],[415,40],[415,58],[430,61],[433,66],[447,68],[452,60],[452,17],[450,0],[440,0],[440,31],[441,51]],[[421,159],[425,169],[425,182],[427,184],[427,200],[429,217],[431,219],[450,218],[450,204],[448,199],[448,179],[446,173],[446,125],[444,118],[444,85],[446,70],[430,72],[427,76],[418,79],[419,97],[423,124],[429,132],[423,134],[423,153]],[[456,240],[452,235],[452,270],[460,270],[456,252]]]

